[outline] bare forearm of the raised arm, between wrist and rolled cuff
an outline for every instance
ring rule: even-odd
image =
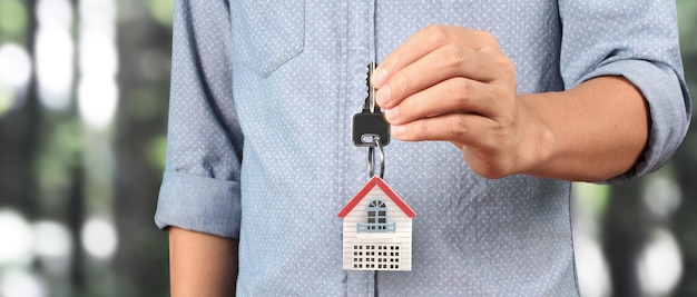
[[[649,115],[639,90],[620,77],[600,77],[562,92],[522,95],[549,141],[543,160],[524,174],[601,181],[627,172],[640,158]],[[532,143],[534,146],[534,143]]]

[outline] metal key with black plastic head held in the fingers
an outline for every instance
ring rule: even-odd
[[[375,88],[371,82],[371,77],[375,70],[375,63],[367,65],[367,97],[363,103],[363,110],[353,115],[351,127],[352,141],[356,147],[375,147],[377,141],[384,147],[390,143],[390,123],[375,105]]]

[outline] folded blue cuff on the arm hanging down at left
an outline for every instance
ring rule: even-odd
[[[239,238],[239,182],[167,170],[163,177],[155,224]]]

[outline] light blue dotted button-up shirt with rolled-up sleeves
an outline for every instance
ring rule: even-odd
[[[366,149],[350,131],[365,67],[428,24],[492,32],[521,93],[632,81],[650,139],[615,180],[666,162],[689,121],[673,1],[175,2],[155,220],[239,238],[240,296],[578,295],[570,184],[488,180],[445,142],[385,148],[384,180],[418,214],[412,271],[342,270],[336,214],[367,181]]]

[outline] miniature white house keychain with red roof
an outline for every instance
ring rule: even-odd
[[[416,214],[380,177],[374,176],[337,216],[344,220],[344,270],[411,270]]]

